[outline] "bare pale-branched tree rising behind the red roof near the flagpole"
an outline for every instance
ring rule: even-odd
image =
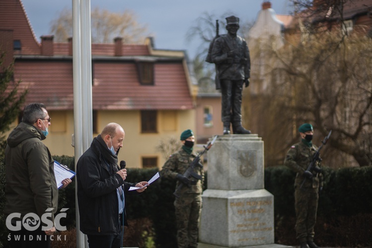
[[[92,43],[112,43],[115,37],[122,37],[124,43],[143,43],[150,36],[147,25],[137,22],[134,12],[110,12],[95,8],[91,12]],[[63,9],[59,17],[51,22],[51,33],[57,42],[66,42],[72,37],[72,11]]]

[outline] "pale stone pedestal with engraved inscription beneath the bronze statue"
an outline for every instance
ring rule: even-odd
[[[274,244],[274,196],[264,189],[263,141],[220,135],[208,151],[199,242],[221,247]]]

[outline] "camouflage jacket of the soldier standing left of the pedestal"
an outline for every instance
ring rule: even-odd
[[[177,174],[184,174],[188,166],[194,160],[197,155],[193,152],[190,155],[186,153],[183,149],[173,153],[169,156],[169,159],[165,162],[162,171],[160,172],[163,177],[168,177],[170,179],[176,180]],[[180,195],[187,193],[202,193],[203,183],[204,183],[204,171],[203,168],[197,166],[194,168],[194,172],[202,176],[202,180],[196,180],[194,178],[189,178],[196,184],[192,184],[190,187],[184,186],[180,190]],[[177,180],[176,188],[181,184]]]

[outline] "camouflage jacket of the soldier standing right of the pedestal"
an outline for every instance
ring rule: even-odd
[[[287,156],[284,160],[284,165],[288,166],[293,171],[297,172],[295,179],[295,187],[300,187],[305,180],[304,171],[308,169],[308,166],[315,154],[317,147],[307,146],[303,142],[299,142],[291,146],[287,152]],[[317,161],[316,165],[320,167],[320,162]],[[317,188],[323,186],[322,174],[312,172],[314,177],[312,179],[306,179],[303,187]]]

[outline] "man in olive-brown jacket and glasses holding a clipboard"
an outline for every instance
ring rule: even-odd
[[[53,235],[55,227],[44,230],[39,222],[41,216],[48,209],[50,223],[54,223],[54,214],[57,212],[58,188],[54,175],[54,160],[49,149],[42,140],[48,135],[48,126],[51,118],[47,108],[41,103],[32,103],[23,110],[22,123],[18,124],[9,134],[5,148],[5,216],[20,213],[20,217],[7,217],[7,228],[10,230],[9,247],[48,248],[51,239],[46,235]],[[70,179],[62,181],[63,186],[71,183]],[[34,216],[39,217],[37,220]],[[23,217],[40,224],[39,228],[32,230],[35,225],[26,225],[22,221],[21,230],[16,227]],[[33,223],[33,224],[35,224]],[[26,225],[26,226],[25,226]],[[16,237],[19,238],[16,240]],[[39,238],[39,239],[38,239]]]

